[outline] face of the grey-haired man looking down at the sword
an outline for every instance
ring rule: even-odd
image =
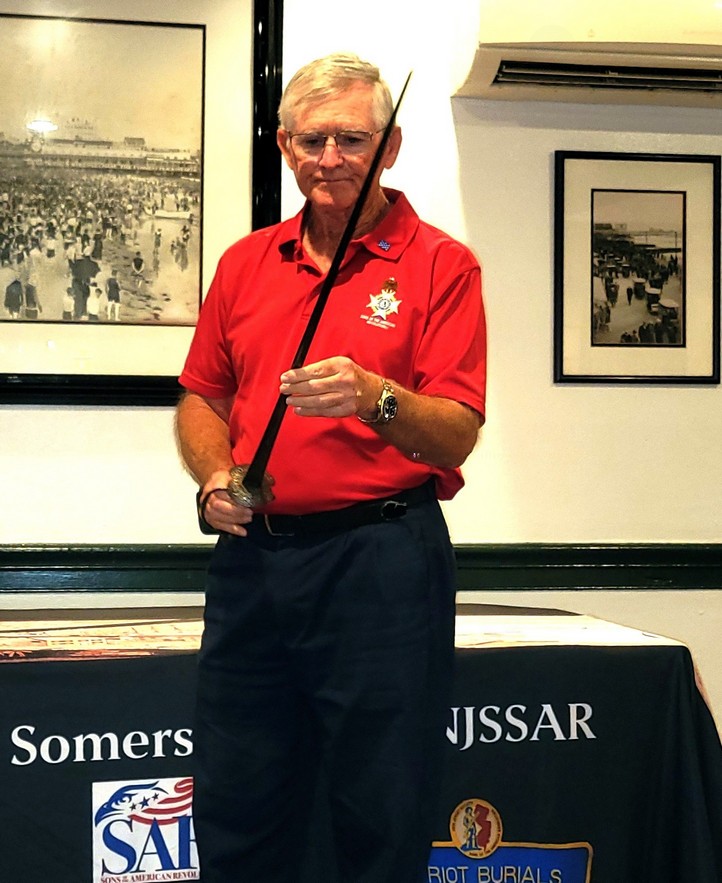
[[[339,150],[333,140],[328,139],[320,155],[306,156],[291,143],[289,136],[302,132],[322,135],[344,131],[374,132],[378,124],[371,113],[372,94],[371,86],[356,83],[320,104],[304,107],[297,115],[293,132],[278,130],[278,146],[296,176],[301,193],[314,209],[344,212],[355,205],[382,133],[373,136],[363,153],[354,155]],[[391,168],[396,161],[400,146],[401,130],[397,128],[392,132],[379,164],[377,181],[383,169]]]

